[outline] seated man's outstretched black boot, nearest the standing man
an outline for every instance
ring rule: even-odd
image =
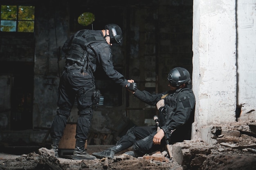
[[[107,150],[103,150],[102,152],[94,152],[92,153],[93,156],[102,159],[108,157],[109,159],[113,159],[115,153],[120,152],[121,150],[127,149],[122,144],[117,144],[115,146],[112,146],[111,148],[108,148]]]

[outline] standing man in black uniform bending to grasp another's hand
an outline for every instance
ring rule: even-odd
[[[127,80],[114,69],[110,46],[122,40],[121,28],[107,24],[103,30],[81,30],[67,40],[62,50],[65,52],[66,65],[58,87],[58,109],[51,127],[52,150],[58,157],[58,144],[63,136],[67,118],[77,96],[79,118],[76,124],[76,146],[72,159],[95,159],[85,150],[85,141],[93,115],[93,102],[97,100],[93,72],[97,62],[106,75],[115,83],[129,88],[133,80]],[[99,97],[99,93],[98,96]]]

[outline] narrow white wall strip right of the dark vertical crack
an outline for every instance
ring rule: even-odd
[[[238,120],[256,120],[256,0],[237,1]]]

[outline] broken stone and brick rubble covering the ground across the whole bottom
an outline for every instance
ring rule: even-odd
[[[72,160],[40,148],[15,159],[0,155],[0,170],[255,170],[255,127],[254,122],[205,127],[205,141],[186,140],[138,158],[120,153],[114,159]],[[88,153],[106,149],[99,147],[90,147]]]

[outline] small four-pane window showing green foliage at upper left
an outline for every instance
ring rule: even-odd
[[[35,7],[1,5],[0,31],[34,32]]]

